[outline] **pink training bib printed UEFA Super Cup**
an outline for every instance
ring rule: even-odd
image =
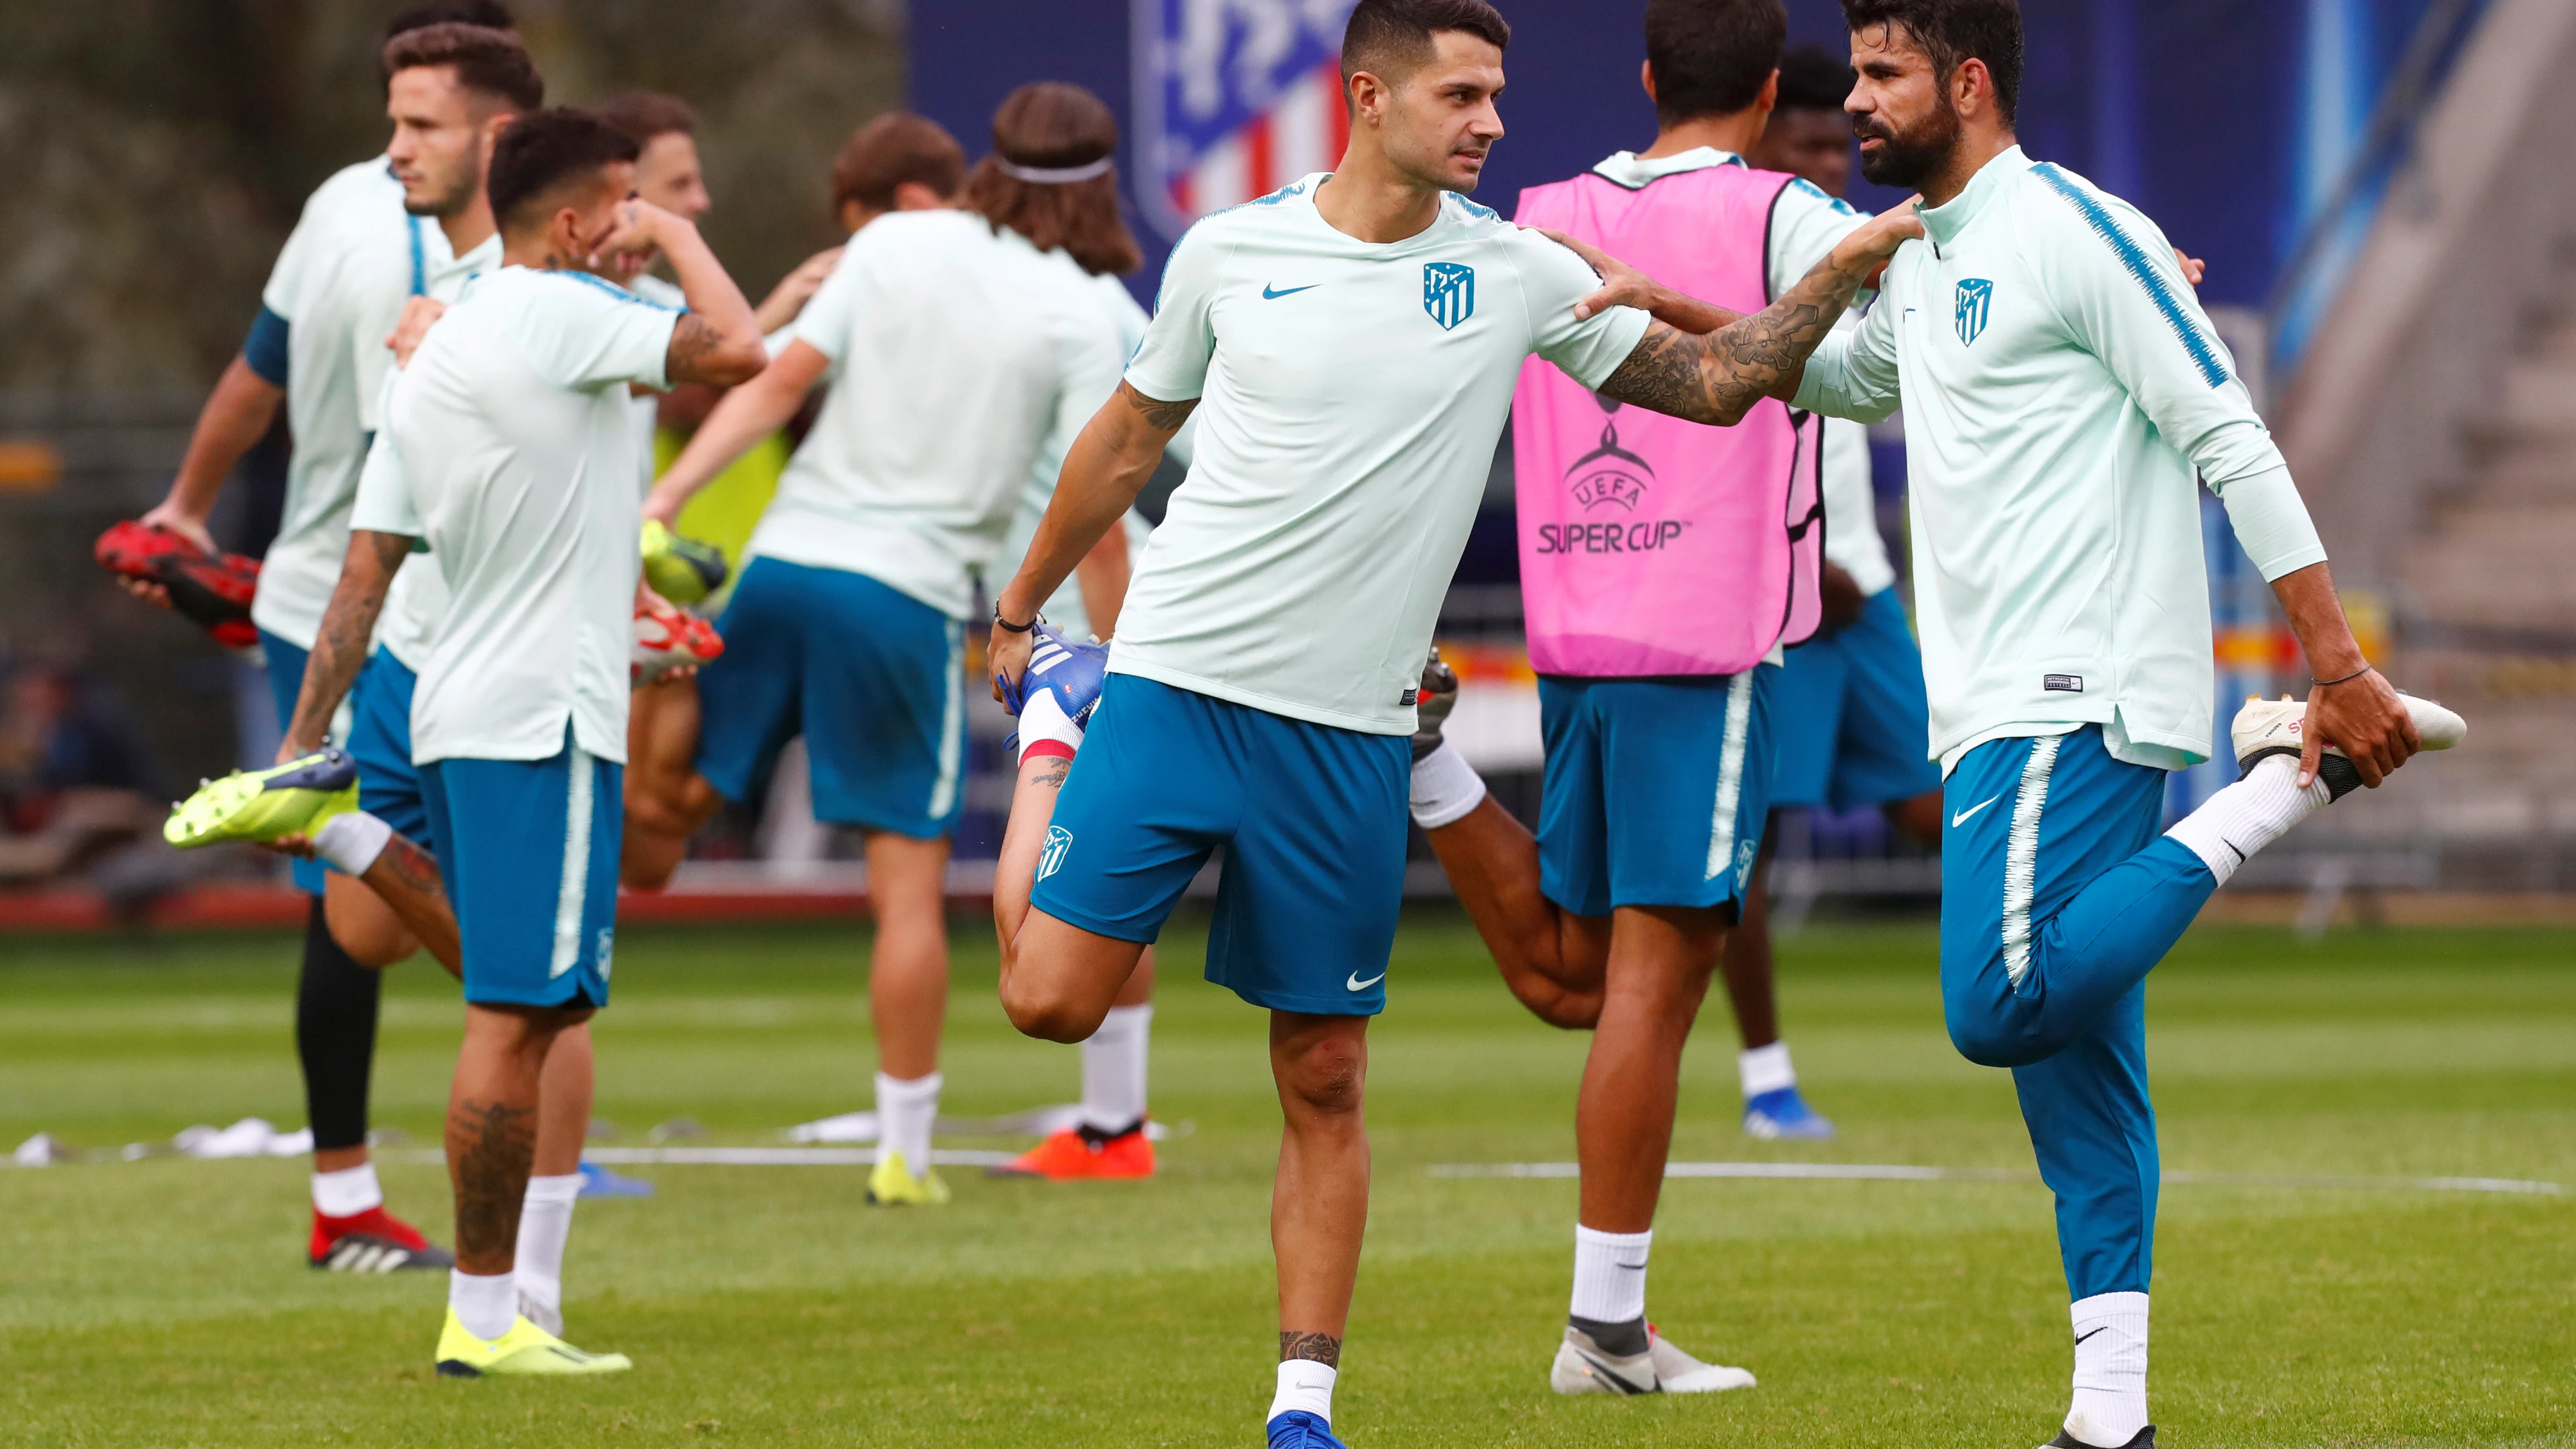
[[[1636,190],[1595,172],[1520,193],[1553,226],[1734,311],[1770,306],[1783,172],[1713,165]],[[1530,358],[1512,394],[1520,597],[1540,674],[1736,674],[1816,633],[1824,425],[1762,399],[1703,427]]]

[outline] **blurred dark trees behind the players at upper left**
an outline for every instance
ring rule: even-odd
[[[198,389],[304,196],[384,144],[397,0],[0,3],[0,389]],[[899,0],[518,0],[549,100],[685,98],[755,293],[835,239],[824,175],[902,98]]]

